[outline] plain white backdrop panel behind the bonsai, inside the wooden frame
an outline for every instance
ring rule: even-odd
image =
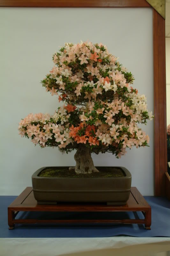
[[[29,113],[54,113],[55,96],[40,84],[53,66],[52,54],[65,42],[89,39],[109,51],[135,75],[134,87],[153,110],[152,10],[149,8],[0,8],[1,35],[1,170],[0,195],[18,195],[31,186],[31,175],[42,166],[74,165],[74,153],[34,146],[18,135],[18,122]],[[93,155],[95,165],[125,166],[132,186],[153,195],[153,121],[143,129],[150,148],[133,148],[116,159]]]

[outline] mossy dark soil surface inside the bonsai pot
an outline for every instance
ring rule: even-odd
[[[58,178],[110,178],[110,177],[125,177],[122,169],[116,167],[96,167],[99,172],[87,174],[76,174],[74,170],[69,170],[69,167],[51,167],[45,168],[38,175],[39,177],[58,177]]]

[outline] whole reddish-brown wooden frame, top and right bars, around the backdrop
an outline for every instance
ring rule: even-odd
[[[146,7],[145,0],[0,0],[1,7]],[[153,8],[152,8],[153,9]],[[153,9],[155,196],[165,195],[167,169],[165,20]]]

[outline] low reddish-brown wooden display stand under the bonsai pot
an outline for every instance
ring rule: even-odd
[[[15,219],[19,211],[22,212],[142,212],[144,219],[127,220],[40,220],[40,219]],[[37,204],[33,196],[32,187],[27,187],[8,207],[8,225],[13,229],[16,223],[136,223],[144,224],[146,229],[151,229],[151,206],[139,193],[136,187],[131,188],[129,200],[126,205],[100,204],[79,204],[79,203],[59,203],[59,204]]]

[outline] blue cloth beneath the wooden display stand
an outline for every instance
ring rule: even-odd
[[[8,229],[7,207],[16,196],[0,196],[1,217],[0,237],[170,237],[170,201],[164,197],[144,196],[152,208],[151,230],[146,230],[143,224],[16,224],[15,229]],[[121,216],[120,216],[121,215]],[[17,218],[142,218],[142,213],[136,212],[20,212]]]

